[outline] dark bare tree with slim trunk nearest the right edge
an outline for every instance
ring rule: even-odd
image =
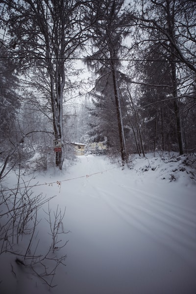
[[[138,1],[141,10],[135,15],[135,25],[140,25],[142,34],[137,40],[137,46],[142,49],[144,44],[154,43],[159,46],[163,55],[160,59],[170,66],[172,81],[171,95],[175,114],[176,134],[179,153],[183,150],[181,101],[179,99],[184,69],[189,69],[192,82],[195,78],[196,39],[194,30],[196,5],[194,1],[184,0],[143,0]],[[144,56],[147,59],[147,55]],[[151,58],[154,59],[154,58]],[[179,82],[180,81],[180,82]],[[185,79],[184,79],[185,81]],[[187,79],[185,84],[187,83]],[[185,87],[185,85],[183,85]]]

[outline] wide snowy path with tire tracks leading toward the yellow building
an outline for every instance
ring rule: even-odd
[[[79,160],[70,175],[109,171],[62,183],[72,232],[59,287],[63,280],[67,294],[195,294],[194,191],[110,170],[101,157]]]

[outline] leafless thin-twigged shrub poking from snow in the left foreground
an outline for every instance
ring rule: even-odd
[[[17,187],[12,190],[0,185],[0,254],[14,255],[14,262],[24,267],[24,274],[29,273],[30,269],[32,275],[36,274],[44,284],[53,287],[56,269],[59,265],[65,265],[65,254],[58,256],[53,254],[54,250],[66,245],[66,243],[58,245],[56,248],[57,243],[60,242],[57,237],[65,213],[61,215],[61,210],[59,212],[57,208],[54,215],[54,224],[57,224],[57,228],[54,226],[54,236],[52,236],[54,247],[48,246],[45,252],[37,252],[39,243],[42,243],[42,240],[38,240],[37,227],[41,221],[38,211],[53,197],[47,199],[42,194],[34,195],[30,181],[28,183],[23,181],[22,184],[19,182],[18,180]],[[48,216],[50,230],[53,228],[50,211]],[[15,274],[13,265],[11,267]]]

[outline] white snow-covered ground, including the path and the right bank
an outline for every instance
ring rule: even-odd
[[[50,293],[195,294],[195,172],[191,157],[148,154],[123,171],[104,156],[88,155],[58,175],[34,174],[34,193],[56,195],[50,208],[66,207],[70,231],[61,235],[62,244],[69,240],[61,249],[66,267],[58,268]],[[12,181],[10,175],[10,188]],[[46,215],[39,213],[42,251],[50,240]],[[48,293],[15,259],[0,255],[0,293]]]

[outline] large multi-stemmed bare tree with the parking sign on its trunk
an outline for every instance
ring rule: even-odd
[[[17,61],[22,73],[32,66],[44,69],[49,80],[54,139],[62,143],[66,75],[74,52],[88,39],[91,22],[86,23],[85,10],[90,5],[90,1],[79,0],[1,1],[1,23],[10,36],[10,58]],[[59,169],[63,160],[62,147],[56,152]]]

